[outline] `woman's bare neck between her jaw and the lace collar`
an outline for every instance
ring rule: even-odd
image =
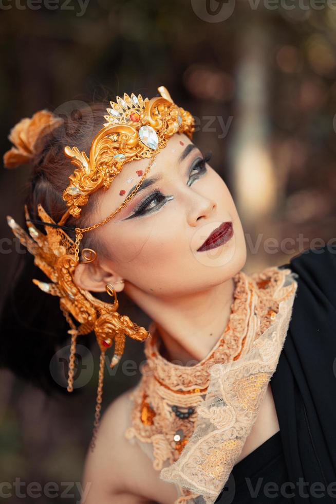
[[[206,291],[162,299],[126,282],[125,293],[155,322],[163,345],[160,353],[176,364],[192,365],[209,354],[225,331],[234,287],[230,278]]]

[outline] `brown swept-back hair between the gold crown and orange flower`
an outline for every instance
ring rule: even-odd
[[[74,102],[76,103],[76,102]],[[40,135],[34,145],[37,153],[33,157],[32,175],[28,182],[27,206],[31,219],[41,220],[37,207],[40,203],[50,217],[57,223],[67,210],[62,193],[69,184],[69,175],[75,167],[64,154],[65,146],[76,146],[89,155],[90,145],[94,136],[103,127],[106,114],[106,103],[91,102],[80,109],[72,110],[70,114],[61,115],[61,124]],[[89,197],[79,218],[70,215],[64,227],[71,239],[74,239],[75,227],[86,227],[92,224],[90,214],[95,210],[99,191]],[[100,253],[106,252],[103,244],[95,239],[95,230],[84,233],[81,247],[89,246]]]

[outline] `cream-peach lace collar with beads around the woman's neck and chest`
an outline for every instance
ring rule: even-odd
[[[166,361],[151,325],[125,437],[139,442],[162,480],[175,483],[175,504],[213,504],[229,479],[284,345],[295,276],[277,267],[237,273],[227,328],[195,366]]]

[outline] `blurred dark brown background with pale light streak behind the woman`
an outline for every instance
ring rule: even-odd
[[[233,194],[246,233],[247,272],[287,263],[303,249],[336,239],[332,2],[22,0],[0,10],[2,153],[10,148],[10,128],[37,110],[71,114],[106,89],[114,100],[124,92],[151,97],[165,85],[194,115],[194,142],[213,152],[211,164]],[[2,303],[20,250],[6,215],[22,215],[25,168],[0,171]],[[147,322],[137,307],[127,313]],[[0,370],[0,481],[13,485],[21,478],[26,487],[55,482],[60,488],[81,481],[98,348],[83,355],[88,383],[52,398]],[[124,361],[143,358],[141,344],[128,340]],[[138,373],[105,376],[103,409],[138,379]],[[59,492],[53,501],[77,500],[78,492],[68,494]]]

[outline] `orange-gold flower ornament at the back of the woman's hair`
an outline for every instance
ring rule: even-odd
[[[21,119],[8,135],[15,147],[4,154],[5,168],[16,168],[30,163],[43,148],[37,140],[62,123],[63,119],[48,110],[39,110],[31,118]]]

